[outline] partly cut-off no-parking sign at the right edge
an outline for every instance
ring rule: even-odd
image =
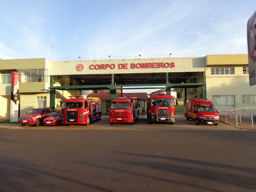
[[[247,22],[247,45],[249,60],[249,84],[256,84],[256,11]]]

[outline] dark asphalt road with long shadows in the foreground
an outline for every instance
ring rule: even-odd
[[[1,129],[0,146],[0,191],[256,191],[255,131]]]

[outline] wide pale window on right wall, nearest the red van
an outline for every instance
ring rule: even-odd
[[[235,95],[212,95],[215,107],[235,107]]]

